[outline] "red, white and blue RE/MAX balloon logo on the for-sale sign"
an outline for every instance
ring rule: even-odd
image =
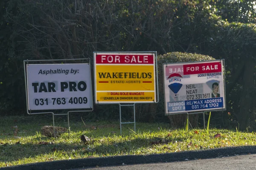
[[[181,82],[180,78],[182,78],[182,76],[180,74],[177,74],[177,73],[171,74],[168,77],[169,82],[172,83],[172,84],[168,85],[168,87],[175,94],[175,96],[177,96],[178,91],[182,87],[182,84],[180,83]]]

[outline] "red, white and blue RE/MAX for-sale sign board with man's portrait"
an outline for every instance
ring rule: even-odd
[[[163,64],[166,115],[225,109],[223,60]]]

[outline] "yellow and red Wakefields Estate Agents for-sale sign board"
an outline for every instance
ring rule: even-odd
[[[154,53],[94,52],[96,103],[156,101]]]

